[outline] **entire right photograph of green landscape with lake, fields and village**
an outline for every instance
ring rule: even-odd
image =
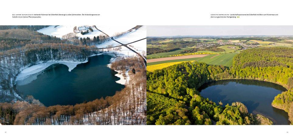
[[[293,26],[147,26],[147,125],[292,125]]]

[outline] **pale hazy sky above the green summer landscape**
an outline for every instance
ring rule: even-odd
[[[147,26],[147,36],[293,35],[293,26]]]

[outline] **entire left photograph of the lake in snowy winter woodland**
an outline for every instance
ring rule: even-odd
[[[140,25],[0,26],[0,123],[146,125],[146,36]]]

